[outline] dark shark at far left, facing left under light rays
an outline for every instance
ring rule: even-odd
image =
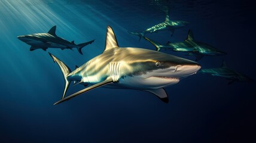
[[[31,45],[30,51],[35,49],[43,49],[46,51],[47,48],[60,48],[60,49],[72,49],[77,48],[78,52],[83,55],[82,48],[93,41],[75,44],[74,41],[69,42],[56,35],[56,26],[53,26],[48,33],[35,33],[31,35],[18,36],[20,41]]]

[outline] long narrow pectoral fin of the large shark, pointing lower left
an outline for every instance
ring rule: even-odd
[[[53,105],[59,104],[59,103],[64,102],[64,101],[66,101],[66,100],[70,100],[71,98],[76,97],[77,95],[83,94],[84,92],[88,92],[88,91],[90,91],[90,90],[92,90],[92,89],[95,89],[95,88],[99,88],[100,86],[108,85],[109,83],[112,83],[112,82],[113,82],[112,77],[108,77],[108,78],[107,78],[106,80],[104,80],[103,82],[100,82],[100,83],[97,83],[97,84],[95,84],[95,85],[92,85],[92,86],[90,86],[90,87],[88,87],[88,88],[82,89],[81,91],[78,91],[78,92],[76,92],[75,94],[69,95],[68,97],[63,98],[62,100],[57,101],[57,102],[54,103]]]

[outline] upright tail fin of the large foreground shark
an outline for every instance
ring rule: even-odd
[[[71,82],[67,79],[68,74],[71,73],[71,70],[62,61],[60,61],[58,58],[56,58],[53,54],[51,54],[50,52],[48,52],[48,53],[51,56],[51,58],[53,58],[54,63],[56,62],[59,65],[60,70],[62,70],[63,77],[65,79],[65,88],[64,88],[63,95],[62,95],[62,99],[63,99],[65,97],[66,91],[68,90],[69,84]]]

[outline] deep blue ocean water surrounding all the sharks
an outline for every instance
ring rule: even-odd
[[[48,52],[71,70],[102,53],[106,26],[121,47],[154,50],[129,31],[142,31],[162,22],[164,8],[170,20],[189,21],[175,31],[148,34],[160,43],[194,38],[228,54],[204,57],[202,68],[231,69],[252,79],[255,73],[255,10],[249,1],[0,1],[0,142],[255,142],[255,83],[234,82],[195,74],[166,89],[169,103],[154,95],[128,89],[97,88],[70,101],[62,97],[64,79]],[[77,49],[37,49],[17,39],[44,33],[56,25],[56,34],[75,43],[95,39]],[[162,51],[194,60],[183,53]],[[70,86],[70,95],[84,86]]]

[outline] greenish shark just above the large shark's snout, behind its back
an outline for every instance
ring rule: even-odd
[[[185,39],[183,42],[167,42],[166,45],[161,45],[159,42],[153,41],[152,39],[145,39],[156,46],[157,51],[160,51],[160,49],[170,49],[178,52],[188,52],[187,55],[194,55],[196,57],[196,61],[203,58],[204,55],[227,54],[220,49],[214,48],[214,46],[208,45],[207,43],[194,40],[194,36],[191,30],[188,31],[187,39]]]

